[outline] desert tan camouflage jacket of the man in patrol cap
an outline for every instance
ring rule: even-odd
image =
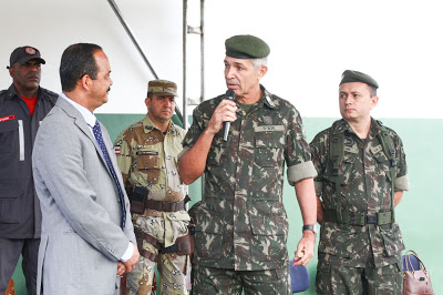
[[[114,145],[125,187],[130,183],[145,186],[147,197],[156,201],[184,200],[187,187],[177,172],[184,136],[185,131],[173,121],[164,135],[147,115],[124,130]]]

